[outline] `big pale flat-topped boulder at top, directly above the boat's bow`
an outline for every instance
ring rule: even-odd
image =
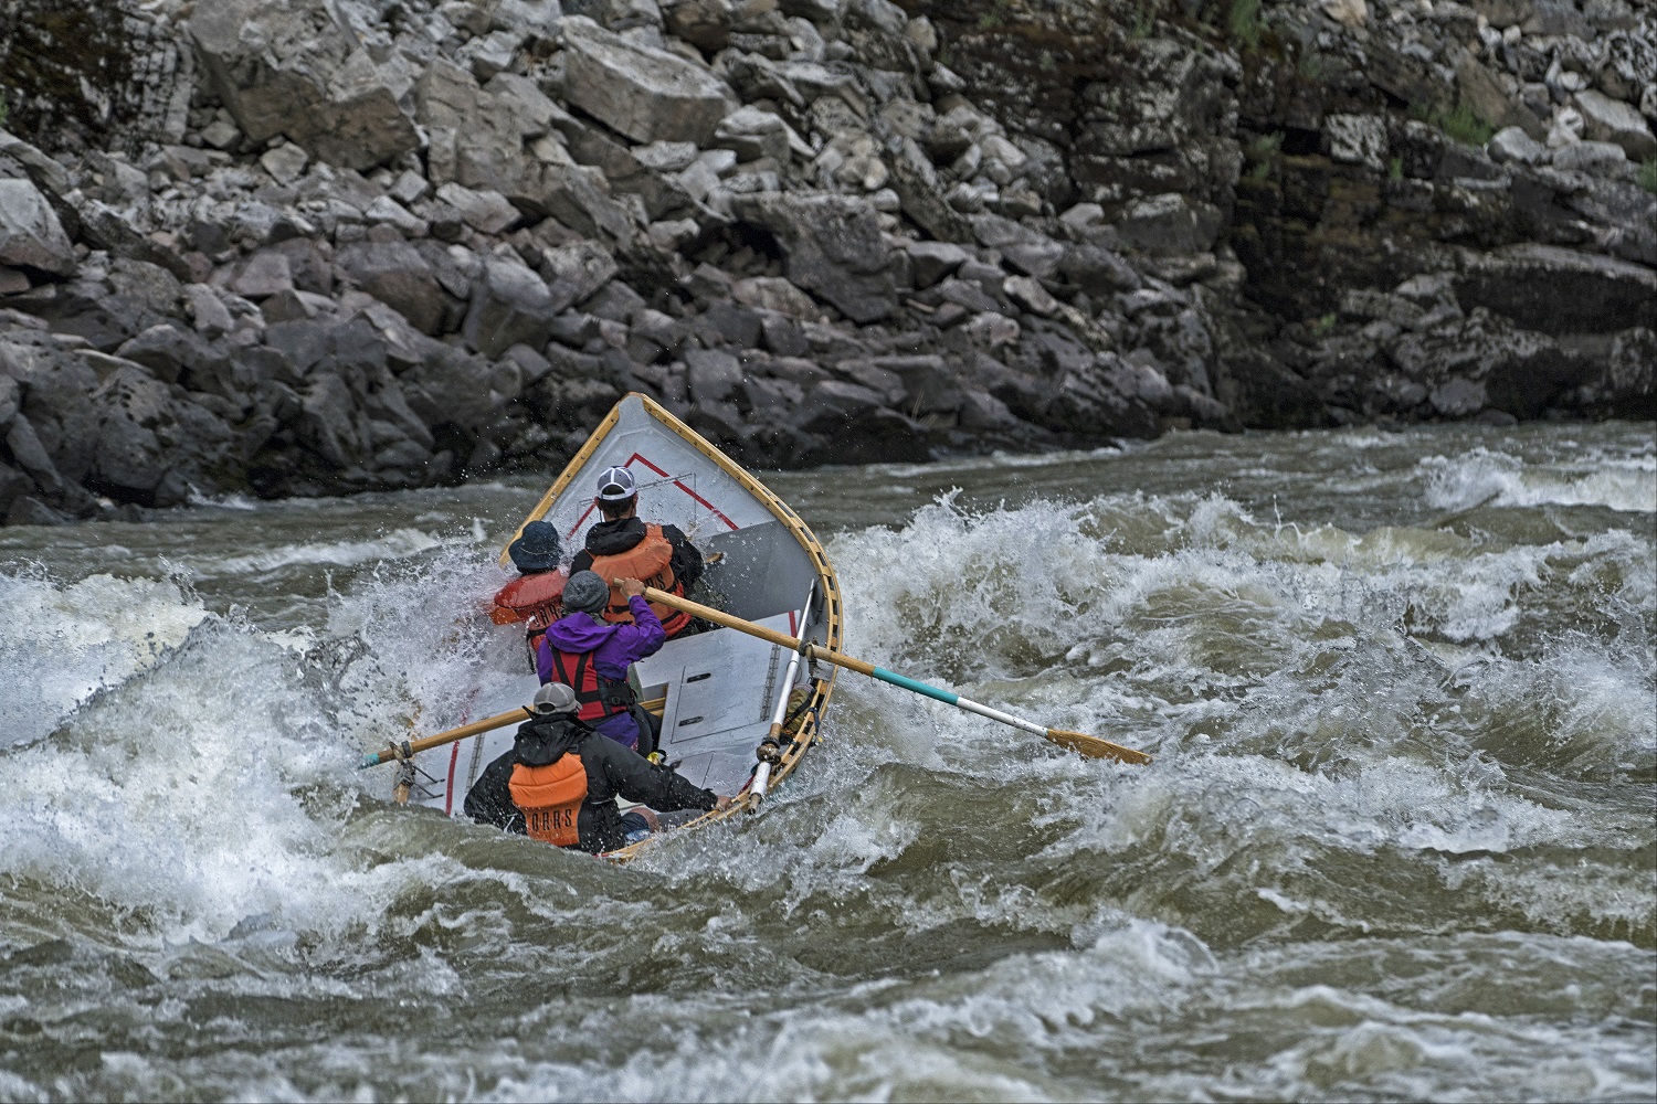
[[[563,22],[563,41],[570,103],[638,142],[709,146],[734,106],[731,89],[708,70],[585,17]]]

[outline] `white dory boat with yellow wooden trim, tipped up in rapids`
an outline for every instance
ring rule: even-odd
[[[588,526],[600,520],[593,482],[611,465],[631,470],[638,480],[643,520],[678,525],[704,558],[714,559],[693,594],[696,601],[840,649],[840,586],[812,531],[757,478],[646,396],[628,394],[605,415],[512,540],[524,525],[545,520],[558,526],[567,550],[580,550]],[[510,563],[504,550],[500,559]],[[809,670],[800,664],[787,685],[790,659],[794,652],[774,644],[734,629],[713,629],[668,641],[636,664],[640,698],[663,718],[661,750],[668,761],[698,786],[747,793],[754,750],[771,730],[779,700],[799,689],[804,694],[794,694],[797,703],[790,708],[797,727],[792,742],[784,740],[769,786],[785,781],[817,738],[837,670]],[[494,700],[487,705],[494,708],[474,708],[472,715],[525,705],[537,689],[535,675],[524,675],[499,697],[490,694]],[[510,725],[419,753],[414,763],[419,783],[411,799],[464,816],[466,793],[484,766],[512,746],[515,730]],[[726,819],[739,809],[734,804],[693,824]],[[631,857],[653,839],[661,836],[610,857]]]

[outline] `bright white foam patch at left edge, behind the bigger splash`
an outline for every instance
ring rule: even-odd
[[[94,692],[184,642],[207,611],[164,579],[94,574],[58,588],[0,576],[0,746],[51,732]]]

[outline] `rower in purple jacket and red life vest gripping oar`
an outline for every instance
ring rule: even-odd
[[[628,667],[661,650],[668,634],[641,594],[645,584],[625,579],[631,624],[605,621],[610,586],[592,571],[577,571],[563,586],[567,612],[535,649],[542,682],[575,687],[580,718],[625,748],[650,755],[656,748],[656,718],[638,703]]]

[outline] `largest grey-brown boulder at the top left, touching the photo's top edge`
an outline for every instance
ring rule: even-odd
[[[189,31],[215,91],[255,142],[287,134],[312,157],[348,169],[419,146],[398,103],[414,78],[408,61],[376,61],[325,0],[200,3]]]

